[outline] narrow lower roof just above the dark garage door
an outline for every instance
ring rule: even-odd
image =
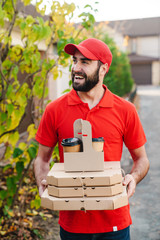
[[[148,57],[138,54],[129,54],[128,55],[130,63],[136,64],[136,63],[151,63],[153,61],[158,61],[158,58],[155,57]]]

